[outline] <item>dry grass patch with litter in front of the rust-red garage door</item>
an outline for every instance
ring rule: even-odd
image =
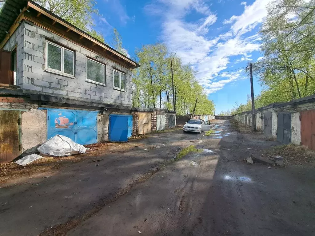
[[[302,165],[315,163],[314,151],[305,146],[295,144],[272,147],[266,150],[263,155],[269,159],[273,159],[275,156],[282,156],[286,164]]]

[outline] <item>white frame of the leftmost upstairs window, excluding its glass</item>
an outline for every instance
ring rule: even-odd
[[[53,68],[49,68],[48,67],[48,44],[51,44],[51,45],[61,49],[61,60],[60,60],[60,64],[61,64],[60,65],[60,69],[61,70],[55,70]],[[72,71],[72,74],[64,72],[64,67],[65,67],[64,66],[64,62],[65,62],[65,54],[64,54],[64,52],[65,52],[65,50],[70,51],[70,52],[73,53],[73,61],[72,61],[73,71]],[[60,46],[60,45],[58,45],[56,43],[53,43],[53,42],[51,42],[49,40],[46,40],[45,54],[46,54],[46,56],[45,56],[45,70],[51,71],[51,72],[55,72],[55,73],[61,73],[61,74],[64,74],[66,76],[75,77],[75,50],[71,50],[69,48]]]

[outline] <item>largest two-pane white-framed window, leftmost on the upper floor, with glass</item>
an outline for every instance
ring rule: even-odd
[[[74,76],[74,51],[46,40],[46,69]]]

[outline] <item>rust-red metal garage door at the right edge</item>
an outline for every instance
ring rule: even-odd
[[[301,144],[315,151],[315,110],[301,111]]]

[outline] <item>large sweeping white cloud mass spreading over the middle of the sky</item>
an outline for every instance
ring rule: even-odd
[[[243,14],[232,16],[223,24],[233,23],[231,30],[216,37],[207,33],[217,16],[211,13],[206,0],[156,0],[157,3],[146,6],[149,14],[160,15],[163,20],[161,40],[171,50],[176,51],[184,63],[190,63],[198,71],[196,79],[204,86],[206,92],[215,93],[225,84],[242,78],[242,71],[224,73],[215,77],[222,70],[231,70],[231,57],[238,56],[239,62],[251,60],[251,52],[260,48],[260,37],[257,34],[244,37],[245,31],[262,21],[266,10],[262,9],[266,1],[256,0],[252,5],[245,6]],[[256,10],[256,8],[258,8]],[[195,22],[187,22],[185,16],[193,10],[204,14],[204,17]],[[253,10],[255,19],[251,19],[249,11]],[[263,13],[263,14],[262,14]],[[249,17],[245,20],[246,17]],[[246,24],[245,24],[246,23]],[[217,27],[215,27],[217,28]],[[241,32],[241,33],[237,33]],[[237,33],[237,34],[236,34]]]

